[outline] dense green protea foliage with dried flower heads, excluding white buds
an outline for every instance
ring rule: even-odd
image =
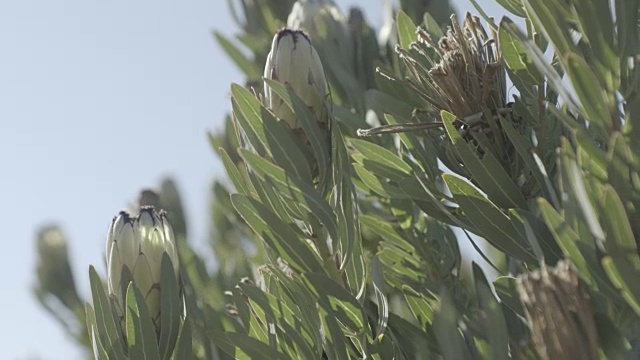
[[[480,17],[447,27],[446,2],[401,1],[381,29],[354,8],[338,35],[318,15],[331,141],[268,80],[303,142],[260,93],[293,1],[230,1],[241,31],[215,37],[247,78],[209,137],[228,175],[212,187],[213,260],[187,241],[173,183],[158,192],[186,317],[163,292],[176,327],[150,337],[130,287],[123,342],[92,267],[89,339],[70,332],[109,359],[638,356],[638,1],[497,2],[499,21],[475,4]],[[353,53],[332,51],[335,36]],[[465,265],[463,239],[490,271]],[[85,316],[39,276],[43,304]]]

